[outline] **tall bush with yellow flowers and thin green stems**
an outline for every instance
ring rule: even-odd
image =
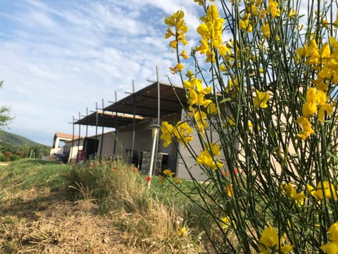
[[[188,121],[163,122],[161,139],[181,143],[208,180],[187,165],[214,220],[211,246],[337,253],[337,1],[309,1],[307,13],[301,1],[194,1],[205,14],[191,57],[184,12],[164,21]]]

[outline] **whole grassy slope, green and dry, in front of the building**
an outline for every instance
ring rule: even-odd
[[[0,167],[0,253],[199,253],[192,205],[124,162]],[[184,188],[191,188],[183,181]],[[187,233],[177,234],[182,227]]]

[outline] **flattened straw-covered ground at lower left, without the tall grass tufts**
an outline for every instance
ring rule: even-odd
[[[145,253],[114,226],[114,214],[32,192],[0,208],[0,253]]]

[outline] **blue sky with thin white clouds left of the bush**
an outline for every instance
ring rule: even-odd
[[[199,6],[192,0],[0,1],[0,106],[15,116],[5,131],[51,145],[95,102],[107,106],[115,91],[125,97],[132,80],[136,90],[156,80],[156,66],[168,81],[175,56],[163,19],[179,9],[194,31]],[[189,40],[193,47],[197,40]]]

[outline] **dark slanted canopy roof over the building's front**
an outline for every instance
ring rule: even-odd
[[[182,107],[187,107],[187,97],[183,87],[159,84],[160,117],[180,113]],[[143,89],[120,99],[103,110],[96,111],[75,121],[75,124],[119,128],[158,116],[158,83],[153,83]],[[96,120],[97,119],[97,120]]]

